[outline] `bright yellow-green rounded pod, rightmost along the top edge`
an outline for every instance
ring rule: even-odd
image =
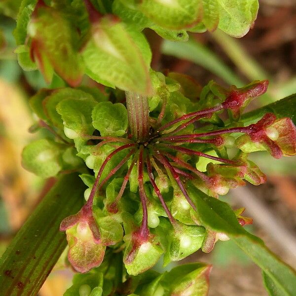
[[[258,0],[218,0],[218,28],[232,37],[243,37],[257,18]]]

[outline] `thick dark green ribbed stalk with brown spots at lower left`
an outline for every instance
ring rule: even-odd
[[[47,193],[0,259],[3,296],[36,296],[67,242],[61,221],[82,206],[84,186],[77,175],[64,175]]]

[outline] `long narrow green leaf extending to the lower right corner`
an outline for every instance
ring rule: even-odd
[[[240,226],[235,213],[228,204],[217,198],[206,196],[196,189],[194,201],[203,225],[230,236],[263,272],[275,282],[275,285],[287,293],[286,295],[292,296],[295,293],[296,272],[271,253],[259,238]]]

